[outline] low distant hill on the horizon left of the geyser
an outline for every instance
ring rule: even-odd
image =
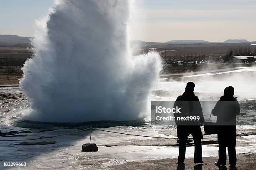
[[[18,35],[1,35],[0,44],[26,44],[30,43],[30,37],[20,37]]]

